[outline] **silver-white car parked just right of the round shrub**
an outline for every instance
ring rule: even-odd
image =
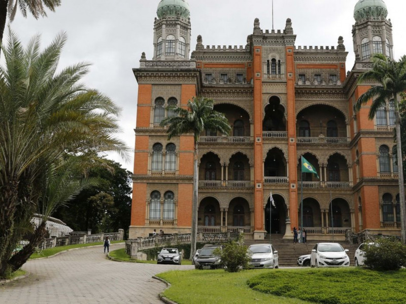
[[[253,244],[248,247],[253,268],[279,268],[278,251],[271,244]]]

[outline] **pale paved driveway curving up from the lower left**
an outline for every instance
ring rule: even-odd
[[[110,250],[123,247],[113,244]],[[23,269],[27,278],[0,286],[0,303],[161,304],[158,294],[166,285],[152,276],[193,266],[113,262],[97,246],[28,261]]]

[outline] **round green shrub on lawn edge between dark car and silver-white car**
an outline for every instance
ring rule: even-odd
[[[247,253],[247,246],[242,245],[243,235],[240,235],[239,242],[227,243],[223,250],[216,249],[215,254],[221,257],[221,263],[227,272],[239,272],[249,267],[250,255]]]

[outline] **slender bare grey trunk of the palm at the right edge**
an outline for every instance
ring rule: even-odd
[[[400,137],[400,115],[399,104],[397,102],[397,94],[395,99],[395,117],[396,117],[396,153],[397,153],[397,168],[398,168],[398,183],[399,183],[399,204],[400,204],[400,237],[402,243],[406,243],[406,205],[404,203],[404,180],[403,180],[403,159],[402,146]]]

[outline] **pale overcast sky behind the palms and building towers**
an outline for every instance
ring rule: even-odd
[[[24,19],[18,12],[12,23],[24,44],[37,33],[46,46],[61,31],[68,41],[62,52],[60,67],[80,61],[93,63],[85,84],[110,96],[122,109],[121,138],[134,146],[137,111],[137,82],[132,68],[139,67],[141,53],[152,59],[153,24],[159,0],[62,0],[55,13],[47,18]],[[255,18],[260,27],[272,29],[272,0],[188,0],[194,50],[196,37],[202,35],[206,45],[246,45]],[[357,0],[274,0],[274,28],[284,29],[292,19],[296,46],[337,46],[344,37],[349,52],[347,70],[354,64],[352,25]],[[385,0],[393,25],[394,54],[406,54],[404,36],[404,0]],[[7,34],[5,35],[7,39]],[[133,157],[125,163],[117,155],[108,156],[132,172]]]

